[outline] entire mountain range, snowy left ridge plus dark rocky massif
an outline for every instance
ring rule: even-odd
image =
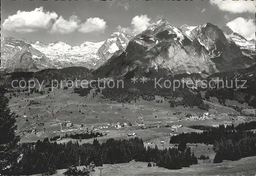
[[[206,23],[176,28],[164,19],[137,35],[115,31],[105,41],[79,46],[1,37],[1,70],[6,73],[75,66],[115,77],[216,73],[250,67],[254,56],[255,41],[227,26],[220,29]]]

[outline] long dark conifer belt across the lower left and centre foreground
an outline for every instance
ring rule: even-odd
[[[64,144],[44,141],[21,144],[23,157],[12,168],[12,174],[36,174],[45,173],[48,170],[65,169],[76,165],[95,166],[102,164],[128,163],[132,160],[141,162],[155,162],[157,166],[168,169],[180,169],[197,164],[197,158],[189,147],[176,149],[159,149],[157,146],[144,147],[143,140],[133,138],[129,140],[108,139],[99,143],[94,139],[93,143],[71,141]],[[55,172],[54,172],[55,173]]]

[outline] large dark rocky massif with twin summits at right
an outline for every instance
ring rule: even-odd
[[[94,73],[99,77],[216,73],[246,68],[253,63],[235,43],[228,42],[217,26],[197,26],[189,31],[188,37],[161,19],[134,36],[124,52],[112,56]]]

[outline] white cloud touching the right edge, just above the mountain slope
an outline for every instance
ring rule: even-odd
[[[255,22],[254,19],[245,19],[238,17],[227,23],[227,26],[232,31],[237,32],[244,36],[246,39],[255,39]]]

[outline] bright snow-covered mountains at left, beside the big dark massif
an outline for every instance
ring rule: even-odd
[[[74,47],[62,41],[55,41],[45,45],[40,41],[29,41],[24,38],[2,37],[1,70],[6,72],[36,72],[42,69],[62,69],[67,67],[95,69],[115,52],[124,51],[131,37],[128,34],[116,31],[105,41],[97,43],[86,41]],[[31,51],[33,54],[25,54],[24,51]],[[23,59],[20,62],[24,64],[12,64],[14,60],[22,60],[20,56],[26,56],[27,60]],[[44,57],[41,59],[41,56]]]

